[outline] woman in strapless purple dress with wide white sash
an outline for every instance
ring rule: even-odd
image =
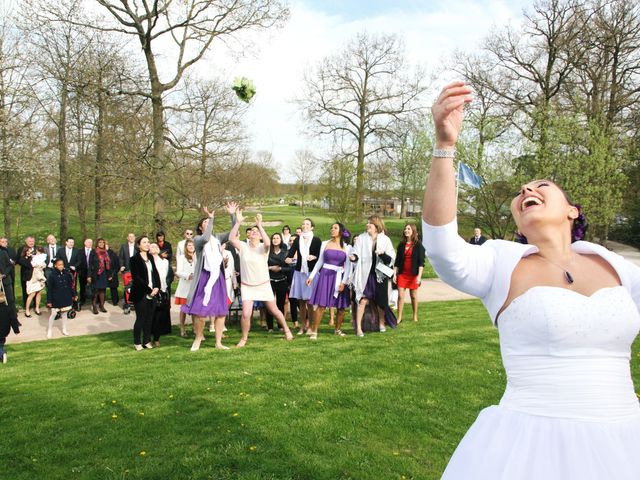
[[[351,273],[351,262],[347,256],[348,231],[341,223],[331,226],[331,240],[322,242],[318,262],[309,275],[307,285],[312,285],[309,304],[313,305],[313,329],[311,340],[318,339],[318,327],[325,308],[336,308],[336,335],[344,337],[342,322],[344,309],[349,308],[349,290],[346,279]]]

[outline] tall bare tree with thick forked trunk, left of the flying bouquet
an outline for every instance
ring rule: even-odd
[[[163,170],[168,162],[164,152],[167,135],[164,97],[178,85],[185,72],[204,57],[215,39],[235,39],[244,30],[269,28],[288,16],[288,9],[279,0],[97,1],[115,22],[99,28],[130,35],[142,49],[149,84],[147,89],[132,93],[151,101],[154,170]],[[160,67],[160,51],[174,59],[172,67]],[[161,72],[165,73],[164,79]],[[154,221],[160,227],[164,223],[164,177],[152,178]]]

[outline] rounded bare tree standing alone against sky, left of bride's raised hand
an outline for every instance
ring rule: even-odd
[[[422,76],[407,72],[397,36],[363,33],[305,76],[298,103],[312,130],[356,159],[356,217],[362,213],[365,158],[388,148],[384,138],[393,123],[419,110]]]

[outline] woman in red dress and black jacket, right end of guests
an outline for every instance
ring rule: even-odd
[[[409,289],[413,321],[418,321],[418,287],[424,269],[424,247],[418,239],[418,230],[413,223],[407,223],[398,245],[396,263],[393,267],[393,281],[398,284],[398,323],[402,321],[405,291]]]

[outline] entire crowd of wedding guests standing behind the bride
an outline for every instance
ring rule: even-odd
[[[44,247],[27,237],[16,252],[0,238],[0,271],[10,302],[15,302],[12,282],[15,267],[22,269],[24,316],[40,314],[41,296],[47,289],[50,319],[47,338],[53,324],[62,319],[61,330],[68,335],[66,318],[72,318],[86,302],[94,314],[105,312],[106,291],[119,303],[119,274],[125,285],[124,306],[135,310],[134,347],[143,350],[159,346],[160,336],[171,331],[171,285],[177,277],[175,305],[180,309],[180,335],[186,336],[187,317],[192,318],[192,351],[200,348],[209,319],[215,332],[216,348],[223,344],[225,318],[234,301],[242,310],[242,335],[238,347],[246,345],[255,309],[269,331],[274,319],[287,340],[293,333],[318,338],[325,310],[331,311],[335,334],[343,331],[345,311],[352,308],[353,328],[357,336],[365,331],[386,331],[402,321],[406,290],[409,290],[413,319],[417,321],[416,292],[424,267],[424,248],[414,224],[407,224],[395,249],[382,218],[369,217],[366,231],[351,236],[339,222],[331,226],[329,239],[314,234],[313,221],[306,218],[292,233],[288,225],[282,232],[267,235],[262,217],[246,228],[241,241],[239,229],[244,216],[237,204],[229,203],[230,232],[214,234],[213,212],[205,209],[195,229],[186,229],[175,251],[175,273],[171,261],[174,250],[163,232],[152,242],[147,236],[127,236],[116,254],[106,240],[86,239],[83,248],[75,247],[72,237],[58,246],[53,235]],[[398,288],[398,318],[389,307],[390,293]],[[32,310],[33,308],[33,310]],[[335,322],[333,320],[335,313]],[[19,322],[18,322],[19,323]]]

